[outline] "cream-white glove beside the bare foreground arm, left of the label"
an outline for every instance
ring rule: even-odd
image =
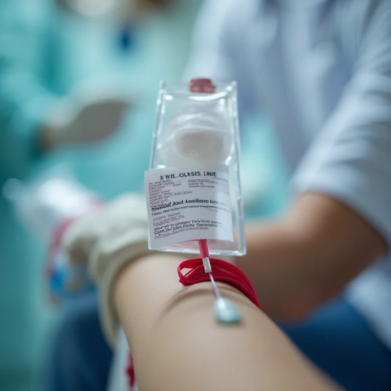
[[[106,338],[115,344],[118,316],[112,303],[112,284],[129,262],[150,254],[144,197],[123,195],[74,223],[63,238],[70,262],[88,261],[88,273],[100,290],[100,315]]]

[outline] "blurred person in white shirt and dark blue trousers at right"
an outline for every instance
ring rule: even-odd
[[[236,80],[292,172],[289,211],[237,260],[265,313],[346,389],[390,390],[391,2],[206,1],[195,77]]]

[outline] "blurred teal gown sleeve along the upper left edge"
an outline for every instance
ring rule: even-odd
[[[48,3],[0,1],[0,170],[4,176],[24,174],[38,154],[37,130],[57,99],[42,81],[50,36]]]

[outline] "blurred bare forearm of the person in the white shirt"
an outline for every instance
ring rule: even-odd
[[[280,221],[249,226],[246,242],[237,264],[278,320],[300,319],[337,295],[387,249],[364,218],[317,193],[300,196]]]

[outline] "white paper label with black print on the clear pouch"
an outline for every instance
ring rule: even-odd
[[[151,249],[196,239],[234,241],[228,167],[148,170],[145,187]]]

